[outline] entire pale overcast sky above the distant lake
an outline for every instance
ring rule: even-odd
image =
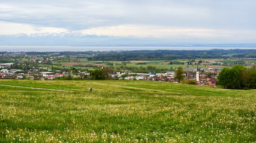
[[[256,43],[255,5],[255,0],[0,1],[0,45]]]

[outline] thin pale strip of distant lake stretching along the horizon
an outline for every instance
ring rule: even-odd
[[[209,50],[209,49],[256,49],[246,46],[0,46],[0,51],[10,52],[61,52],[61,51],[132,51],[132,50]]]

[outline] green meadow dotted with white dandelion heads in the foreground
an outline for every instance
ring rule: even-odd
[[[116,80],[0,84],[74,91],[0,86],[0,142],[256,141],[256,90]]]

